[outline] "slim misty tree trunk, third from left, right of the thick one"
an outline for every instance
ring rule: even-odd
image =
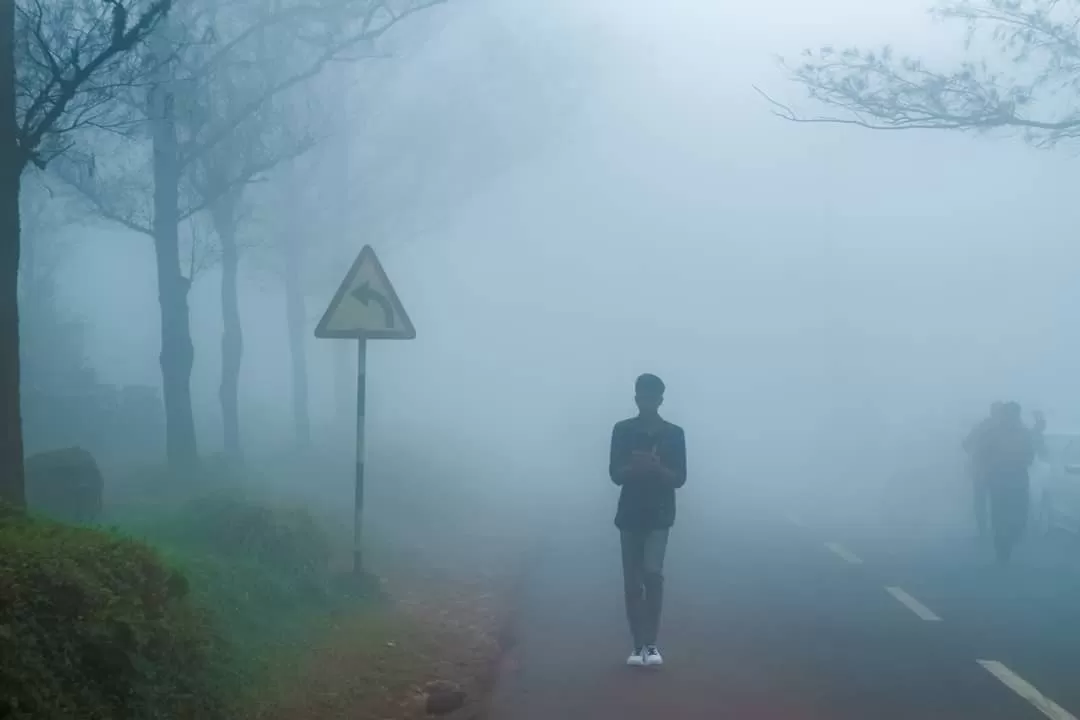
[[[243,459],[240,446],[240,364],[244,354],[243,328],[240,324],[240,299],[237,293],[240,273],[240,248],[237,247],[237,199],[226,193],[215,204],[214,229],[221,241],[221,420],[225,431],[225,453],[234,461]]]

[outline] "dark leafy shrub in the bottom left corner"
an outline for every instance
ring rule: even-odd
[[[217,644],[147,545],[0,508],[0,717],[225,717]]]

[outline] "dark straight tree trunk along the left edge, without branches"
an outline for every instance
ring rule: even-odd
[[[18,192],[15,2],[0,0],[0,500],[26,505],[18,344]]]

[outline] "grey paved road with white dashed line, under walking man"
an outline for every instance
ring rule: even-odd
[[[748,505],[680,520],[659,670],[622,664],[606,516],[553,527],[495,720],[1080,717],[1080,542],[1001,569],[959,533]]]

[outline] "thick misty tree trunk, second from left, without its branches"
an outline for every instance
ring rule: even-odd
[[[178,157],[174,97],[167,84],[151,90],[153,137],[153,247],[161,307],[161,378],[165,400],[165,454],[170,467],[188,471],[199,459],[191,407],[191,281],[180,271]]]

